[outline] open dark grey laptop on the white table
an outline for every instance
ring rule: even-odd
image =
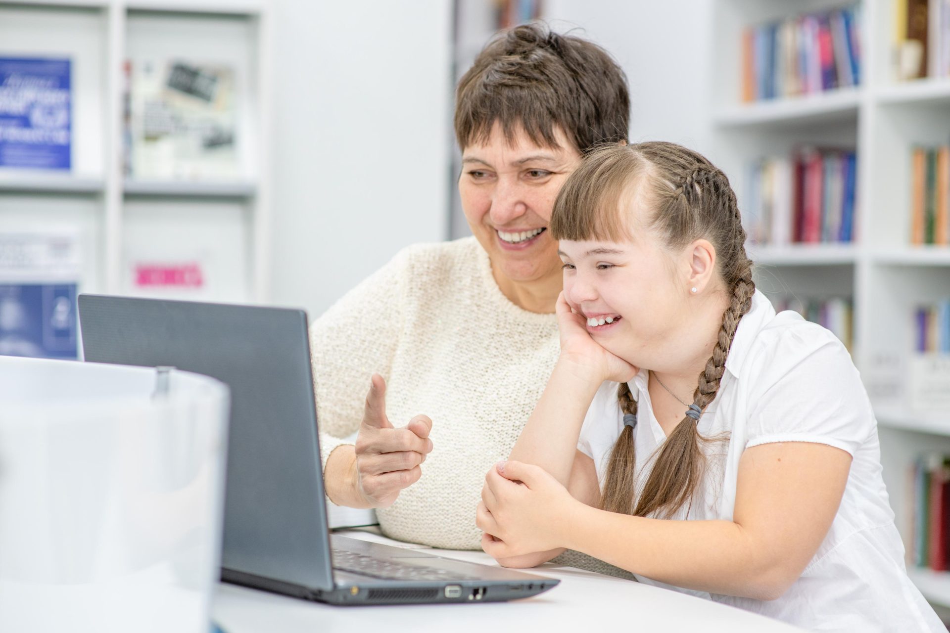
[[[560,582],[330,533],[303,310],[81,294],[79,320],[85,361],[231,387],[222,581],[333,605],[498,602]]]

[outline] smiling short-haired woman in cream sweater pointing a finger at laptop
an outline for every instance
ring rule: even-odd
[[[455,112],[474,236],[401,251],[312,327],[333,502],[377,508],[393,538],[479,549],[478,485],[558,358],[551,207],[584,152],[626,139],[629,109],[623,72],[590,42],[530,25],[485,47]]]

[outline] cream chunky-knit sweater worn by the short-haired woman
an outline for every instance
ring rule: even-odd
[[[479,549],[485,473],[508,456],[558,359],[554,314],[512,304],[474,237],[409,247],[311,330],[324,464],[363,417],[370,376],[394,426],[432,419],[422,478],[377,511],[391,538]]]

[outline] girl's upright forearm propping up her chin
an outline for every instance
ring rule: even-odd
[[[580,424],[600,384],[586,368],[559,360],[509,458],[541,466],[566,486]]]

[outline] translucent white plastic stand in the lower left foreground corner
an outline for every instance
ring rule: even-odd
[[[226,385],[0,357],[0,630],[206,633]]]

